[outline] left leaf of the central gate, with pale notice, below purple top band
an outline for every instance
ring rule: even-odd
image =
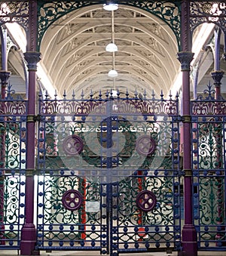
[[[105,174],[96,175],[99,155],[84,144],[85,133],[88,139],[92,131],[96,134],[96,122],[85,119],[79,113],[41,116],[38,249],[107,253],[107,187],[99,182]]]

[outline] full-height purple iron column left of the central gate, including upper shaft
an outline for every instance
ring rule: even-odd
[[[35,171],[35,108],[36,108],[36,71],[41,54],[36,52],[37,45],[37,1],[29,1],[29,35],[27,52],[24,57],[29,72],[28,105],[26,122],[26,212],[25,224],[21,230],[20,254],[38,254],[35,250],[36,230],[34,220],[34,171]]]

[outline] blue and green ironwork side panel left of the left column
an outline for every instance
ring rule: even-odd
[[[0,248],[19,249],[26,196],[26,101],[11,92],[0,100]]]

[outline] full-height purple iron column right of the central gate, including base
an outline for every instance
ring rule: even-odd
[[[182,2],[182,52],[178,59],[182,69],[182,113],[184,157],[184,205],[185,224],[182,227],[181,256],[197,256],[197,233],[193,224],[192,171],[191,171],[191,110],[190,110],[190,65],[194,54],[191,52],[190,5],[188,0]]]

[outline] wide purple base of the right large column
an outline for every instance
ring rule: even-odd
[[[185,225],[182,229],[182,248],[179,256],[197,256],[197,232],[193,225]]]

